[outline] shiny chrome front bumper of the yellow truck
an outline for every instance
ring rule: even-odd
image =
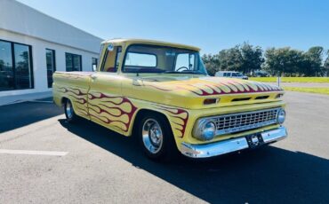
[[[286,129],[283,126],[278,129],[261,132],[260,134],[264,142],[263,144],[277,142],[278,140],[287,137]],[[191,158],[206,158],[225,153],[237,152],[247,148],[249,148],[247,139],[245,137],[237,137],[206,145],[182,143],[181,153]]]

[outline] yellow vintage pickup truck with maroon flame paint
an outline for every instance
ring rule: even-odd
[[[156,160],[181,152],[213,157],[287,136],[284,90],[207,75],[199,48],[114,39],[101,43],[96,72],[56,72],[53,100],[79,117],[138,137]]]

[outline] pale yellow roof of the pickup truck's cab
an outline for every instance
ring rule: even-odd
[[[102,44],[107,43],[127,43],[127,44],[133,44],[133,43],[141,43],[141,44],[154,44],[154,45],[161,45],[161,46],[168,46],[168,47],[177,47],[182,49],[188,49],[193,51],[200,51],[200,48],[187,45],[187,44],[181,44],[181,43],[168,43],[164,41],[155,41],[155,40],[147,40],[147,39],[133,39],[133,38],[116,38],[116,39],[110,39],[101,42]]]

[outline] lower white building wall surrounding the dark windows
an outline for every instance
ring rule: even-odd
[[[35,89],[30,90],[0,91],[0,97],[52,90],[48,89],[45,49],[52,49],[55,51],[57,71],[66,70],[65,52],[82,56],[83,71],[92,71],[92,58],[99,59],[99,54],[92,51],[84,51],[59,43],[51,43],[28,35],[12,33],[4,29],[0,29],[0,40],[12,41],[14,43],[24,43],[32,46],[33,77],[35,87]]]

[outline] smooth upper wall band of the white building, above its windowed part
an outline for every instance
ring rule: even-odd
[[[0,0],[0,28],[84,51],[99,52],[102,41],[14,0]]]

